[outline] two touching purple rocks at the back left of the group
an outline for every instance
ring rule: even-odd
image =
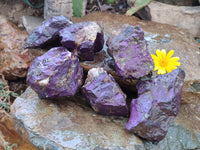
[[[104,33],[96,22],[75,23],[64,16],[44,21],[29,34],[24,48],[63,46],[74,51],[81,60],[92,61],[102,50]]]

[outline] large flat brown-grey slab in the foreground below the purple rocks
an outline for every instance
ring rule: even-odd
[[[126,118],[94,114],[82,98],[78,96],[67,101],[46,101],[39,99],[28,88],[11,107],[12,125],[26,141],[37,148],[46,146],[47,150],[200,149],[200,96],[197,94],[193,94],[194,103],[181,105],[174,123],[159,143],[142,142],[126,131]]]

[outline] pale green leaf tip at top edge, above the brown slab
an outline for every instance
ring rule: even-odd
[[[134,13],[136,13],[138,10],[144,8],[145,6],[147,6],[149,3],[151,2],[151,0],[136,0],[135,4],[133,7],[131,7],[127,12],[126,15],[127,16],[132,16]]]

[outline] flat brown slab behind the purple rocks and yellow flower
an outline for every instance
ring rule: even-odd
[[[156,49],[166,49],[167,52],[173,49],[175,51],[174,56],[180,57],[180,67],[186,73],[182,103],[191,103],[196,100],[196,97],[193,97],[192,93],[199,95],[198,91],[200,91],[200,88],[195,89],[193,86],[194,84],[200,85],[200,44],[187,31],[166,24],[141,21],[135,17],[100,12],[89,14],[83,18],[72,18],[72,21],[96,21],[103,27],[107,36],[115,33],[125,23],[140,25],[145,32],[144,38],[147,40],[148,49],[151,54],[155,54]],[[89,70],[92,67],[103,67],[108,73],[112,74],[121,86],[135,91],[137,82],[135,80],[122,81],[114,71],[113,64],[113,60],[102,51],[96,54],[94,61],[82,62],[81,66],[85,70]]]

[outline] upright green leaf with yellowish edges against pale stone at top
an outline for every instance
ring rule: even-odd
[[[81,17],[83,11],[83,0],[72,0],[72,9],[74,17]]]

